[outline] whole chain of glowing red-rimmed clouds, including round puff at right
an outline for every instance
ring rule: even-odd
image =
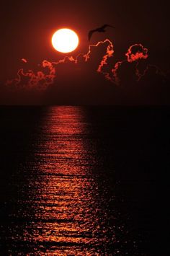
[[[33,88],[45,90],[50,85],[54,84],[55,79],[57,79],[57,67],[59,64],[73,63],[77,65],[77,68],[79,68],[80,57],[81,61],[83,61],[84,63],[88,63],[88,61],[91,59],[91,53],[93,52],[94,48],[97,49],[100,45],[104,46],[105,50],[102,58],[97,64],[96,71],[102,74],[105,79],[112,81],[114,84],[120,84],[121,77],[118,73],[121,69],[122,63],[129,63],[130,65],[130,63],[136,62],[134,73],[137,81],[146,74],[147,68],[144,69],[144,71],[140,71],[139,61],[141,61],[142,59],[146,60],[146,58],[148,58],[148,49],[143,47],[143,45],[140,43],[131,45],[127,53],[125,53],[127,59],[123,61],[117,61],[117,63],[115,63],[115,66],[109,69],[107,64],[109,58],[113,57],[114,45],[109,39],[106,39],[104,41],[99,41],[97,44],[89,45],[87,53],[79,53],[76,58],[73,58],[73,56],[66,56],[65,58],[56,62],[46,60],[42,61],[42,63],[39,65],[39,71],[33,71],[32,69],[24,71],[24,69],[19,69],[19,71],[17,72],[17,78],[7,80],[6,85],[16,86],[17,88]],[[26,63],[27,60],[22,58],[22,61]]]

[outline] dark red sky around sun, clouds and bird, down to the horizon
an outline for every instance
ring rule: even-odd
[[[126,104],[127,102],[167,104],[169,98],[169,2],[168,1],[4,1],[1,3],[1,104]],[[104,56],[101,47],[91,53],[88,65],[71,66],[66,63],[57,67],[57,78],[48,89],[20,89],[15,85],[6,89],[5,81],[17,77],[17,71],[29,69],[38,71],[43,60],[59,61],[64,54],[55,51],[50,43],[53,32],[69,27],[79,35],[79,47],[67,56],[86,54],[89,42],[88,31],[103,24],[111,24],[115,30],[93,35],[91,43],[108,38],[114,45],[114,56],[109,59],[108,69],[117,61],[125,60],[130,45],[142,44],[148,48],[148,59],[140,60],[142,69],[148,69],[143,81],[133,81],[134,65],[122,63],[122,84],[107,81],[97,74],[99,58]],[[104,46],[104,45],[103,45]],[[102,54],[102,55],[101,55]],[[27,63],[21,61],[27,59]],[[135,63],[136,64],[136,63]],[[38,66],[39,65],[39,66]],[[124,73],[125,69],[125,73]],[[151,70],[150,70],[151,69]],[[154,69],[154,70],[153,70]],[[160,77],[166,74],[168,79]],[[128,74],[128,70],[129,74]],[[156,76],[154,76],[156,74]],[[154,76],[154,77],[153,77]],[[151,79],[152,78],[152,79]],[[141,79],[142,80],[142,79]],[[165,81],[166,80],[166,81]],[[143,88],[143,83],[145,88]],[[163,83],[163,86],[161,86]],[[148,87],[147,87],[148,85]],[[136,89],[136,86],[138,89]],[[24,87],[24,88],[23,88]],[[156,87],[154,89],[153,87]],[[134,89],[133,89],[134,88]],[[138,92],[137,92],[138,91]],[[162,94],[161,99],[158,95]],[[141,96],[142,95],[142,96]],[[151,97],[152,95],[152,97]],[[154,96],[153,96],[154,95]],[[166,98],[165,98],[166,95]],[[151,98],[151,99],[150,99]],[[144,100],[143,100],[144,99]]]

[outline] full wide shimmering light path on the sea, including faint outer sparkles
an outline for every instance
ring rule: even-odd
[[[115,198],[115,184],[107,202],[108,189],[102,185],[105,174],[100,175],[104,163],[97,148],[99,138],[86,111],[49,107],[36,120],[30,140],[13,180],[17,200],[9,213],[12,225],[7,224],[4,231],[9,252],[109,253],[116,241],[115,210],[107,212],[108,203]],[[114,169],[112,172],[115,176]]]

